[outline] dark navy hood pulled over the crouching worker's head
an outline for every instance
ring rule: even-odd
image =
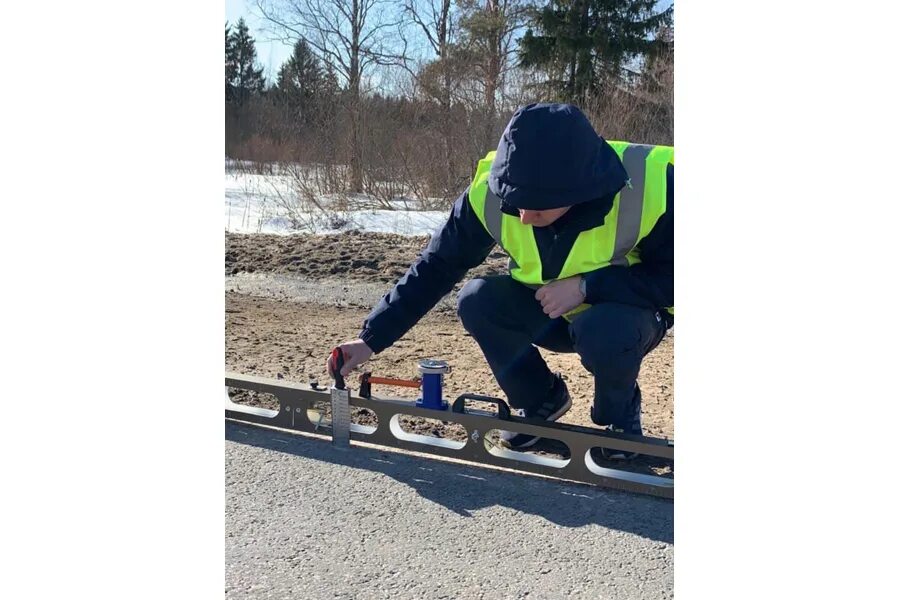
[[[529,104],[513,114],[488,186],[515,208],[547,210],[617,193],[628,175],[615,150],[571,104]]]

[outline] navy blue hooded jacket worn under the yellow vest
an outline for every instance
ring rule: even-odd
[[[584,274],[588,304],[615,302],[649,309],[674,306],[674,167],[669,166],[666,212],[638,243],[641,262]],[[516,111],[503,132],[488,185],[501,210],[571,208],[552,225],[535,227],[543,278],[555,279],[578,234],[602,225],[627,174],[615,151],[576,107],[533,104]],[[593,194],[592,195],[592,191]],[[468,191],[447,222],[363,323],[360,338],[374,352],[400,339],[448,294],[466,272],[484,262],[494,239],[475,215]]]

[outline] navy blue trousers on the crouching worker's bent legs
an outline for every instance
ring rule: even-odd
[[[535,346],[577,352],[594,376],[591,420],[639,433],[644,356],[665,336],[665,315],[625,304],[595,304],[574,317],[551,319],[535,290],[509,275],[469,281],[457,312],[481,347],[497,383],[514,408],[537,407],[547,399],[553,374]]]

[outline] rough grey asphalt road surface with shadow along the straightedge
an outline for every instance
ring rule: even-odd
[[[672,598],[669,500],[225,424],[227,598]]]

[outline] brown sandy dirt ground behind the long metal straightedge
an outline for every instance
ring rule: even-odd
[[[334,297],[341,287],[326,283],[377,281],[384,283],[386,292],[427,241],[423,237],[357,232],[334,236],[227,234],[227,280],[237,279],[233,276],[241,273],[296,276],[306,281],[321,281],[323,297],[296,301],[267,296],[258,289],[250,293],[227,291],[226,370],[299,383],[315,378],[327,385],[330,381],[325,371],[328,352],[337,344],[356,338],[370,307],[343,305],[340,298]],[[504,266],[505,256],[497,252],[468,277],[504,272]],[[645,358],[641,368],[638,381],[643,392],[645,435],[674,437],[673,345],[674,336],[670,332]],[[593,426],[589,416],[593,377],[575,354],[541,352],[550,368],[563,374],[572,395],[572,409],[560,421]],[[463,392],[503,397],[477,344],[446,305],[433,310],[391,348],[374,356],[365,369],[377,376],[408,379],[416,375],[416,363],[421,358],[443,358],[450,362],[453,370],[445,377],[445,398],[453,399]],[[356,377],[350,381],[355,382]],[[381,397],[415,398],[416,392],[409,388],[375,386],[373,389],[373,394]],[[266,405],[265,400],[246,397],[244,400]],[[240,402],[241,397],[236,397],[236,401]],[[448,437],[455,436],[450,432]]]

